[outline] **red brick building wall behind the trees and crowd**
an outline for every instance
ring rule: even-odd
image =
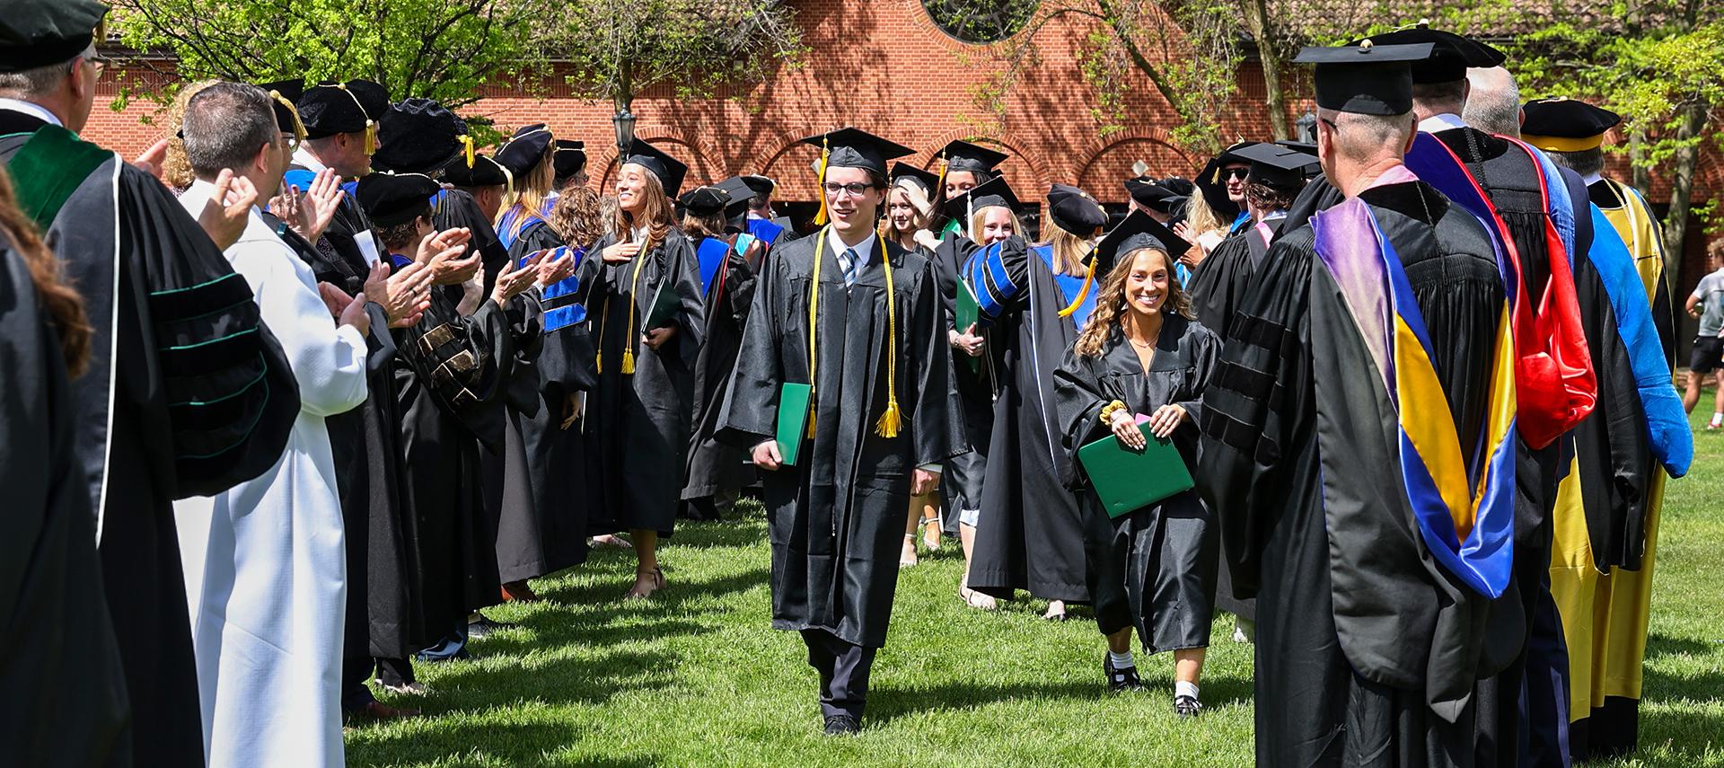
[[[962,43],[940,31],[919,0],[791,0],[798,9],[809,54],[800,66],[783,67],[764,83],[734,86],[715,98],[679,100],[671,88],[648,88],[634,100],[640,117],[636,135],[669,145],[690,166],[690,185],[740,173],[764,173],[779,179],[781,198],[812,200],[814,179],[803,169],[817,157],[814,147],[796,138],[845,124],[893,138],[919,152],[907,162],[929,167],[931,152],[953,138],[981,136],[1002,145],[1014,159],[1003,169],[1024,200],[1040,200],[1050,183],[1076,183],[1102,202],[1124,202],[1121,179],[1143,161],[1152,174],[1191,176],[1202,167],[1169,142],[1172,110],[1146,79],[1131,83],[1131,119],[1121,131],[1102,135],[1091,117],[1093,93],[1078,69],[1074,45],[1091,24],[1076,17],[1045,26],[1041,62],[1007,93],[1005,114],[976,105],[974,88],[986,83],[996,66],[988,48]],[[1302,88],[1302,72],[1291,72],[1290,88]],[[136,72],[121,74],[138,76]],[[147,78],[162,78],[145,72]],[[114,78],[103,97],[117,91]],[[488,86],[465,114],[493,117],[500,126],[548,123],[564,138],[588,143],[595,185],[607,185],[615,161],[609,102],[571,98],[557,71],[543,78],[547,98],[521,97],[509,88]],[[1293,105],[1293,116],[1310,109]],[[100,110],[86,135],[107,147],[136,154],[160,131],[140,123],[155,110],[136,102],[122,112]],[[1290,117],[1293,117],[1290,116]],[[1240,69],[1240,91],[1222,117],[1222,135],[1265,138],[1262,71],[1255,62]],[[1698,200],[1724,186],[1724,164],[1708,152],[1702,162]],[[1619,166],[1626,161],[1615,159]],[[1619,167],[1626,171],[1626,167]],[[1655,185],[1653,198],[1667,186]],[[1690,238],[1688,254],[1703,250],[1700,236]],[[1683,269],[1679,286],[1691,288],[1703,264]]]

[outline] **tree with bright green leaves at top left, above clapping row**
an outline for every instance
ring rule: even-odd
[[[479,86],[543,66],[552,0],[116,0],[114,26],[136,52],[172,54],[184,79],[260,83],[364,78],[395,98],[450,107]],[[162,93],[147,93],[162,97]]]

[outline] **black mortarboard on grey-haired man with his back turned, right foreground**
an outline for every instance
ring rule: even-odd
[[[1315,64],[1317,107],[1395,116],[1412,112],[1412,62],[1431,57],[1431,43],[1307,47],[1293,59]]]

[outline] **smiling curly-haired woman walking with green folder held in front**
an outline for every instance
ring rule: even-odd
[[[1114,266],[1095,314],[1053,373],[1074,487],[1090,485],[1076,463],[1078,449],[1109,435],[1131,450],[1146,447],[1145,431],[1172,440],[1195,475],[1198,411],[1221,340],[1191,319],[1191,304],[1174,278],[1176,259],[1188,247],[1143,212],[1096,247],[1100,262]],[[1209,511],[1195,488],[1117,518],[1095,490],[1079,494],[1095,620],[1107,637],[1109,690],[1143,687],[1129,645],[1136,626],[1146,652],[1174,652],[1174,711],[1198,714],[1221,547]]]

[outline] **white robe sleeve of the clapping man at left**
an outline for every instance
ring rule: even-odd
[[[347,412],[365,402],[365,338],[353,326],[336,328],[329,307],[298,274],[298,257],[271,243],[243,242],[228,249],[233,269],[257,295],[257,309],[293,368],[300,409],[312,416]],[[310,283],[310,285],[309,285]]]

